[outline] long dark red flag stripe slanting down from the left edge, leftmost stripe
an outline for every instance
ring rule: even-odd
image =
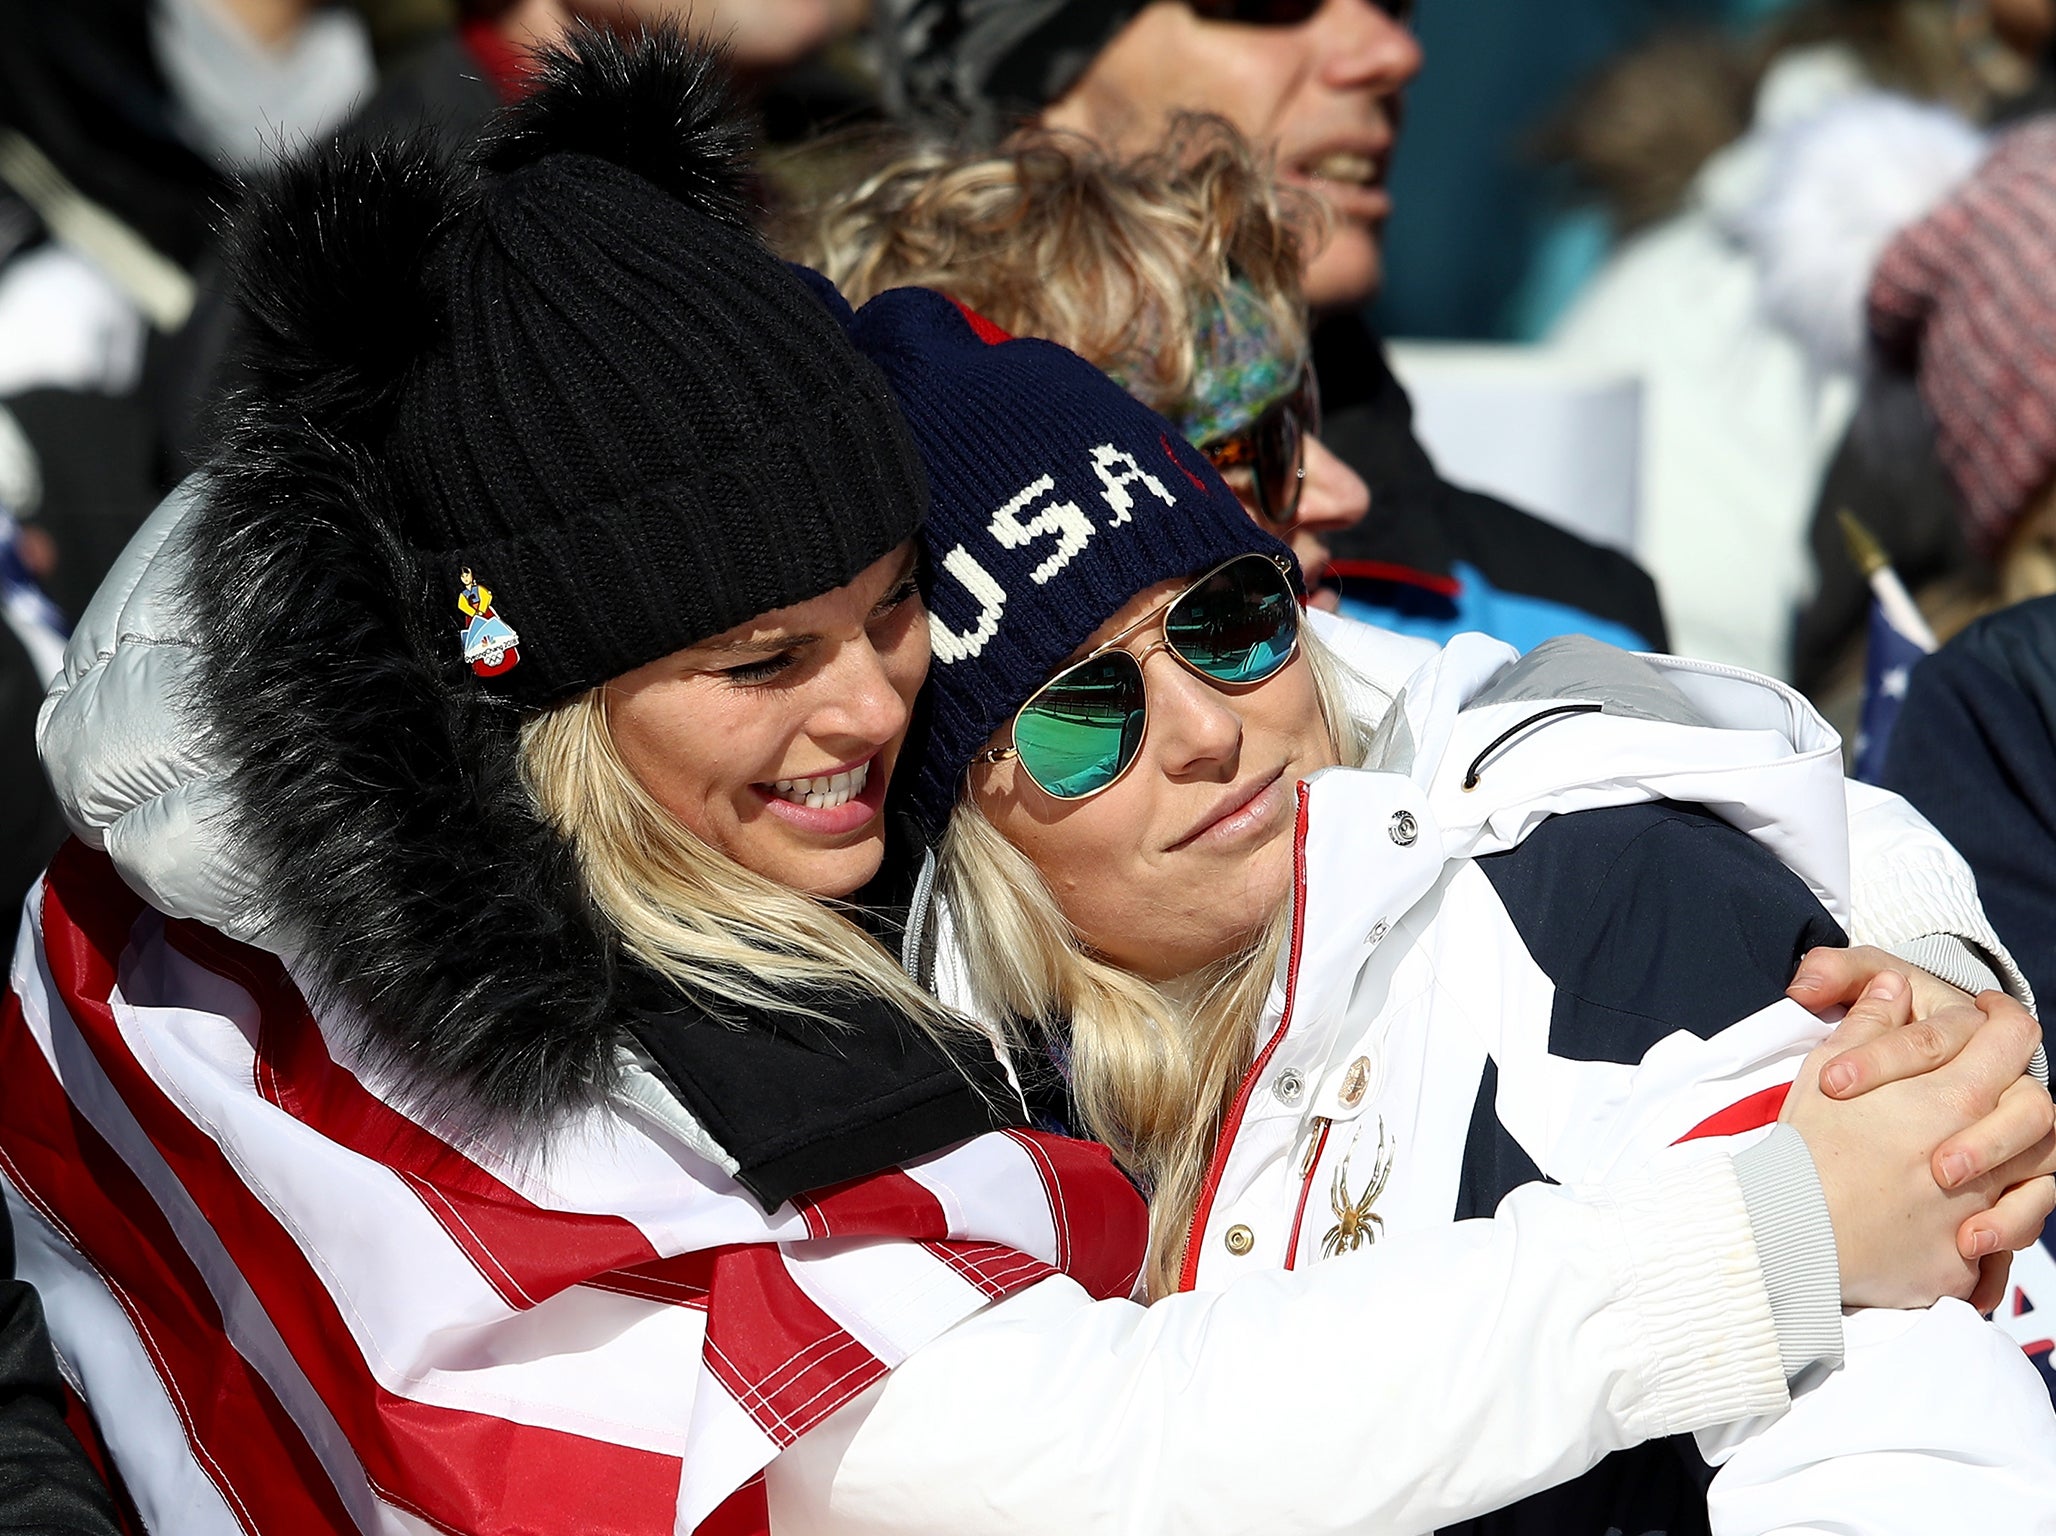
[[[0,1164],[23,1199],[84,1254],[164,1384],[193,1462],[251,1536],[347,1532],[356,1522],[269,1382],[228,1341],[222,1312],[150,1191],[82,1114],[23,1020],[0,1010]],[[82,1417],[82,1415],[80,1415]],[[107,1480],[93,1425],[74,1423]]]

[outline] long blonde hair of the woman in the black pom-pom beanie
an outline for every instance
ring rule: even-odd
[[[940,1040],[989,1038],[833,905],[742,868],[658,804],[615,746],[607,687],[526,722],[520,773],[621,946],[715,1016],[740,1003],[835,1024],[837,995],[872,993]]]

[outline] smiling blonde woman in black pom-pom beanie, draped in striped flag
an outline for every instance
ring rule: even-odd
[[[925,475],[845,315],[748,232],[736,152],[703,56],[588,37],[475,169],[343,150],[255,195],[259,393],[43,722],[82,841],[10,975],[0,1182],[68,1376],[181,1534],[1361,1528],[1326,1489],[1388,1406],[1266,1398],[1382,1328],[1386,1267],[1145,1310],[1133,1186],[898,966],[931,911],[880,806],[919,736]],[[970,426],[962,463],[1016,463]],[[1149,526],[1170,471],[1088,461],[1065,483]],[[991,537],[1086,537],[1030,502]],[[1628,1221],[1667,1188],[1521,1211],[1655,1285]],[[1783,1404],[1739,1223],[1663,1242],[1680,1326],[1556,1287],[1610,1361],[1565,1384],[1579,1423]],[[1929,1228],[1906,1283],[1953,1252]],[[1497,1234],[1443,1260],[1534,1291]],[[878,1497],[845,1450],[886,1456]],[[1219,1470],[1164,1478],[1172,1450]],[[1558,1466],[1493,1458],[1425,1497]]]

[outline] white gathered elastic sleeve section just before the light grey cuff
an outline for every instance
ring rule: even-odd
[[[1692,1158],[1589,1191],[1620,1217],[1635,1254],[1626,1300],[1649,1365],[1645,1437],[1783,1413],[1778,1330],[1729,1158]]]

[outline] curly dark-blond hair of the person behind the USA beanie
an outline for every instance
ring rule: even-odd
[[[1195,343],[1238,282],[1281,343],[1304,350],[1299,261],[1320,220],[1320,204],[1281,187],[1229,123],[1186,115],[1143,158],[1051,130],[997,154],[915,150],[818,208],[798,259],[851,304],[938,288],[1174,411],[1192,393]]]

